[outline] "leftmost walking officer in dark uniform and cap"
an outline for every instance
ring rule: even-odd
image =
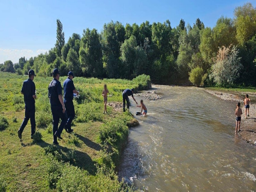
[[[21,88],[21,94],[24,95],[25,101],[25,118],[18,130],[18,137],[21,139],[22,132],[25,126],[28,124],[28,120],[30,119],[31,124],[31,139],[33,139],[33,135],[36,132],[36,120],[35,120],[35,99],[36,99],[36,85],[33,82],[36,74],[35,71],[30,69],[28,71],[28,79],[23,82]]]

